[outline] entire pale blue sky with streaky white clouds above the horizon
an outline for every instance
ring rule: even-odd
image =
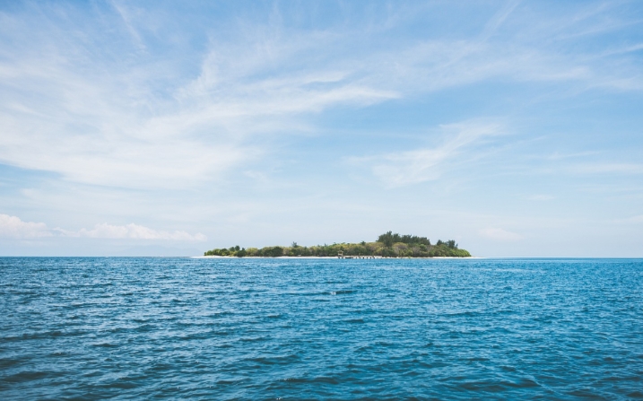
[[[643,257],[643,3],[0,3],[0,256],[385,231]]]

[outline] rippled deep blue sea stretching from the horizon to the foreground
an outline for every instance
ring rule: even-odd
[[[2,399],[641,399],[643,260],[0,258]]]

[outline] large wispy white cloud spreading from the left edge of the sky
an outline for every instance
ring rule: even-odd
[[[121,8],[118,12],[123,16]],[[126,38],[133,23],[126,20]],[[219,45],[204,57],[194,79],[169,81],[164,75],[178,67],[171,60],[150,69],[146,52],[135,55],[135,65],[126,65],[87,51],[84,40],[90,47],[106,46],[97,32],[89,30],[79,39],[57,26],[29,31],[14,24],[12,37],[47,51],[0,48],[5,56],[0,161],[56,171],[82,183],[203,185],[265,153],[265,143],[253,144],[250,138],[308,130],[298,121],[302,114],[398,97],[395,91],[344,80],[346,72],[326,67],[264,74],[266,65],[288,65],[314,48],[307,39],[288,44],[253,37]],[[57,45],[63,42],[65,48]],[[139,36],[135,42],[140,48]],[[265,47],[270,51],[256,51]]]

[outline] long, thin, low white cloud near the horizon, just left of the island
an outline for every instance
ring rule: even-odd
[[[204,241],[207,238],[198,232],[194,235],[186,231],[158,231],[149,227],[130,223],[126,225],[111,225],[106,222],[96,224],[93,229],[82,229],[80,231],[65,231],[56,229],[65,237],[86,237],[105,239],[127,239],[127,240],[187,240]]]

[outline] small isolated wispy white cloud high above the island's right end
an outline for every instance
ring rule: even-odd
[[[363,161],[376,159],[372,166],[373,174],[388,187],[401,187],[438,179],[447,169],[446,164],[456,156],[461,156],[467,148],[486,136],[501,134],[500,124],[463,122],[440,127],[447,139],[437,147],[388,153],[377,158],[365,158]]]

